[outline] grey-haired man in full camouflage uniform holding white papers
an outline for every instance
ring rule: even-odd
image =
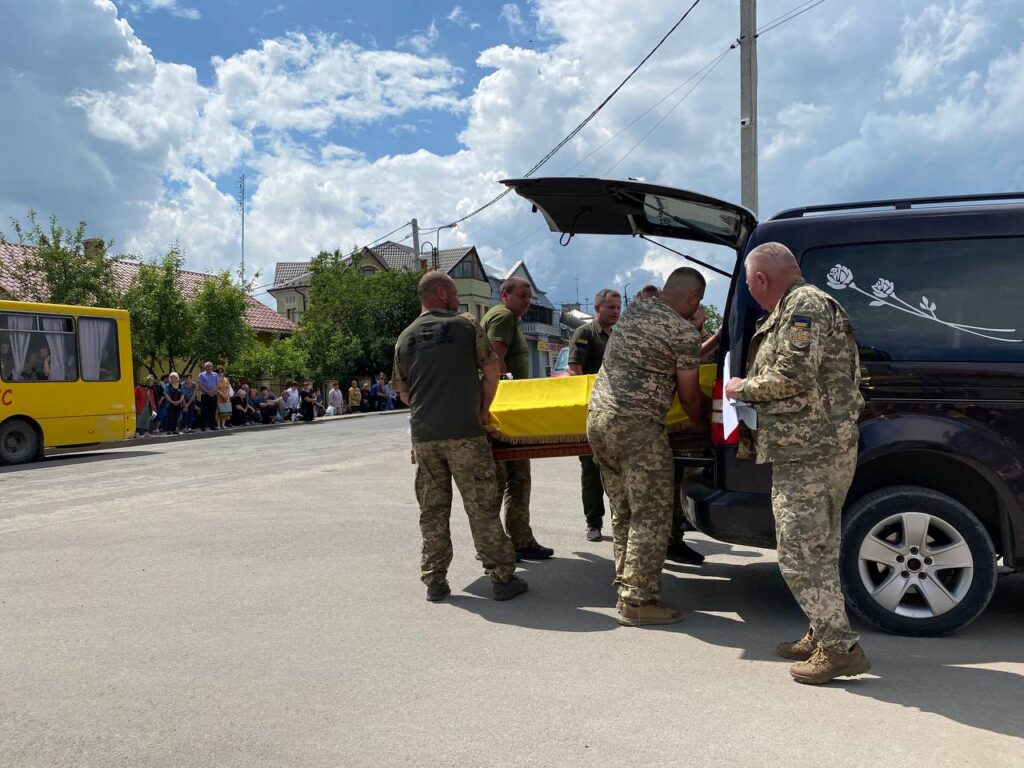
[[[793,253],[766,243],[746,257],[751,296],[770,312],[751,342],[745,379],[726,396],[751,402],[758,428],[743,432],[740,457],[752,450],[772,465],[772,510],[778,564],[810,620],[810,630],[778,652],[803,683],[859,675],[869,664],[850,628],[840,583],[843,504],[857,466],[860,360],[846,311],[808,285]],[[752,445],[753,442],[753,445]]]

